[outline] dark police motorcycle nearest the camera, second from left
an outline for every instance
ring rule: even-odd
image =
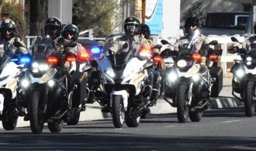
[[[33,133],[41,133],[45,122],[50,132],[61,132],[63,121],[71,112],[72,96],[78,88],[71,81],[71,74],[76,70],[76,57],[62,51],[74,46],[76,43],[67,43],[50,52],[47,45],[39,45],[29,70],[19,78],[17,102],[27,108],[24,120],[29,120]]]

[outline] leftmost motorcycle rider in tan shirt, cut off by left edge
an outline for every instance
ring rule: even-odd
[[[9,56],[12,53],[29,53],[25,44],[16,36],[16,23],[12,19],[4,19],[0,24],[0,57]],[[13,43],[19,42],[22,46],[16,48]]]

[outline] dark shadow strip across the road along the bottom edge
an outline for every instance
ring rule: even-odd
[[[122,132],[6,132],[2,150],[240,150],[256,149],[255,137],[149,136]]]

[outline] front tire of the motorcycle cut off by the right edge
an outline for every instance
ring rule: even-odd
[[[255,112],[255,88],[253,81],[248,81],[244,92],[244,111],[247,117],[251,117]]]

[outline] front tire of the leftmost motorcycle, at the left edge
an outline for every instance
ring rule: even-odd
[[[2,127],[8,131],[16,129],[16,125],[18,121],[18,116],[14,116],[14,117],[10,116],[12,112],[15,112],[15,111],[13,110],[9,111],[8,109],[3,111],[3,117],[8,117],[8,118],[2,119]]]

